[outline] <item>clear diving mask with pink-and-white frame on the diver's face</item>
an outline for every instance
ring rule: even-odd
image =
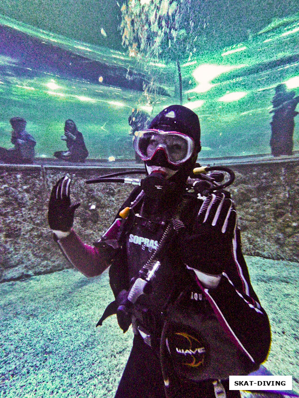
[[[134,148],[143,161],[151,160],[158,150],[163,150],[167,161],[174,166],[186,162],[194,152],[194,141],[177,131],[148,129],[136,131]]]

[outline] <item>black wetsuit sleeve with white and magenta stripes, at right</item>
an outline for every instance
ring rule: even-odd
[[[251,286],[238,229],[233,237],[231,259],[225,264],[218,286],[205,288],[195,270],[193,277],[231,340],[252,362],[265,361],[271,343],[270,324]]]

